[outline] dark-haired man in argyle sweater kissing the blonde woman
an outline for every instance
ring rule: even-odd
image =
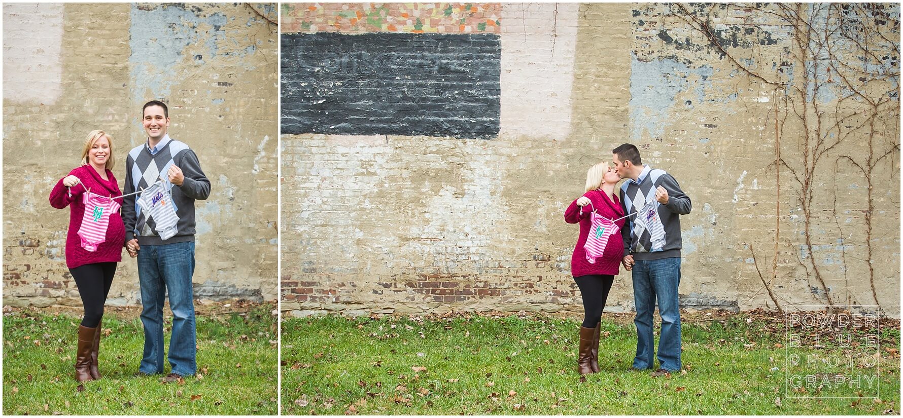
[[[633,274],[634,302],[637,305],[637,357],[633,367],[653,368],[655,339],[652,314],[658,300],[662,332],[658,341],[658,369],[653,377],[666,376],[680,370],[681,335],[680,306],[677,286],[680,284],[680,215],[690,213],[690,198],[680,190],[674,177],[663,170],[643,165],[639,150],[622,144],[611,151],[612,163],[622,179],[620,200],[628,225],[621,230],[624,237],[624,268]]]

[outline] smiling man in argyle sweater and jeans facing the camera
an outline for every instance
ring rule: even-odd
[[[210,181],[191,148],[166,135],[170,118],[163,102],[145,103],[142,118],[147,141],[128,153],[125,193],[144,191],[127,196],[122,205],[126,250],[132,258],[138,258],[144,306],[144,358],[138,375],[163,373],[163,302],[168,289],[173,316],[169,349],[172,370],[161,381],[172,383],[193,376],[197,370],[191,287],[194,200],[207,199]]]

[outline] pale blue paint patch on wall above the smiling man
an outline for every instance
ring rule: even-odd
[[[222,26],[226,16],[216,13],[199,16],[179,5],[157,5],[151,10],[143,10],[147,5],[132,5],[130,11],[128,58],[133,88],[133,101],[144,102],[148,98],[166,98],[172,94],[172,86],[181,78],[174,67],[183,60],[193,60],[196,65],[204,63],[204,56],[217,55],[217,42],[225,39]],[[209,23],[213,30],[199,33],[198,26]],[[185,48],[206,40],[201,54],[189,56]]]

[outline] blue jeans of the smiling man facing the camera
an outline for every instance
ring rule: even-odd
[[[144,358],[138,367],[148,375],[163,373],[163,303],[166,290],[172,310],[169,361],[172,373],[194,375],[197,365],[194,326],[194,243],[141,246],[138,281],[141,283],[141,322],[144,324]]]

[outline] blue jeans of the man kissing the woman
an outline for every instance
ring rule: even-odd
[[[652,354],[656,343],[652,335],[652,314],[662,317],[662,333],[658,339],[658,367],[680,370],[680,306],[677,286],[680,284],[680,257],[659,260],[636,260],[633,266],[633,298],[637,305],[637,357],[633,367],[653,368]]]

